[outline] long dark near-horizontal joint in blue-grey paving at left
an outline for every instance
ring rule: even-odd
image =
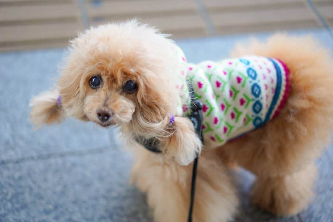
[[[67,151],[67,152],[60,152],[60,153],[42,154],[42,155],[37,155],[37,156],[22,157],[22,158],[18,158],[18,159],[7,159],[7,160],[0,161],[0,166],[8,165],[8,164],[19,164],[19,163],[24,163],[24,162],[34,162],[34,161],[40,161],[40,160],[57,159],[57,158],[64,158],[64,157],[76,157],[76,156],[101,154],[101,153],[106,152],[110,148],[111,148],[111,146],[107,146],[107,147],[100,147],[100,148],[95,148],[95,149],[85,149],[85,150],[78,150],[78,151]]]

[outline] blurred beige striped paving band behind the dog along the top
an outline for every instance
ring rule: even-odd
[[[90,25],[133,17],[173,34],[174,38],[207,37],[321,27],[321,19],[329,25],[333,21],[333,3],[332,0],[0,0],[0,51],[64,47],[77,31]]]

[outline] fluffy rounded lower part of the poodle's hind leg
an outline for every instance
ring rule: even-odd
[[[312,187],[316,171],[315,164],[310,164],[285,176],[258,176],[251,193],[252,201],[278,216],[294,215],[305,209],[314,196]]]

